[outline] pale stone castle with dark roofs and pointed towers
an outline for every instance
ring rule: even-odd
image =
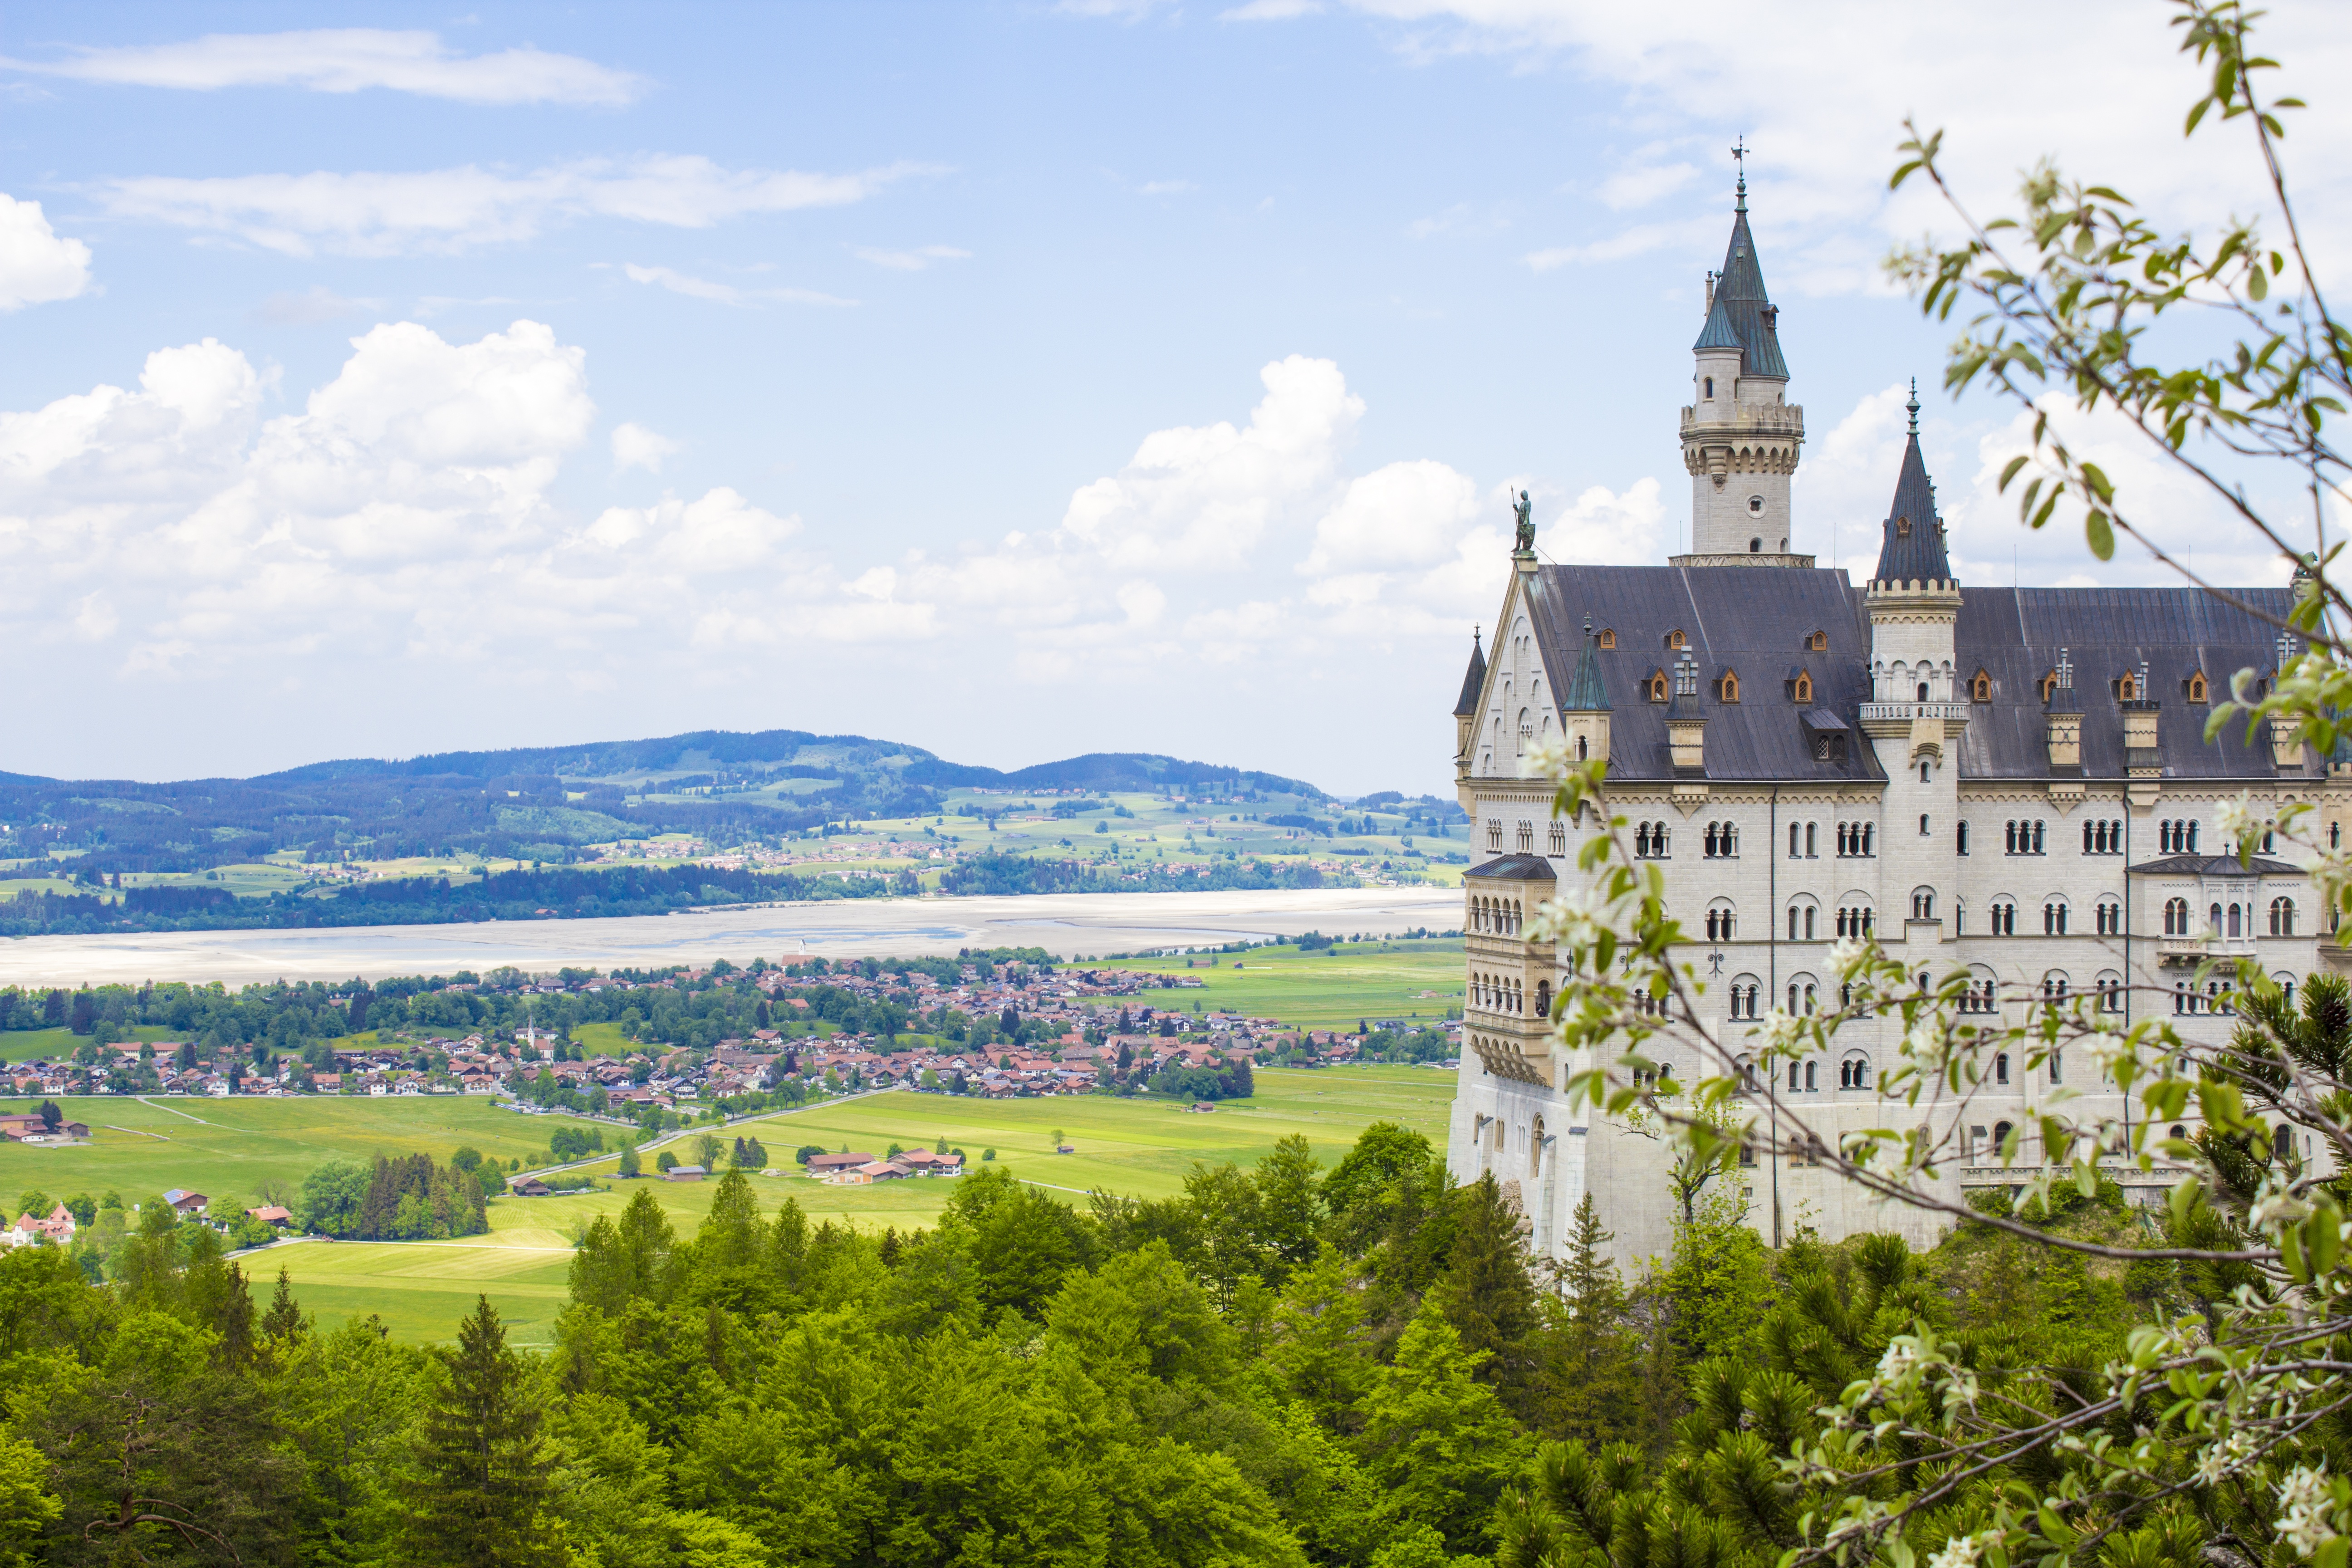
[[[2352,769],[2331,769],[2288,726],[2204,738],[2237,670],[2267,677],[2296,654],[2263,621],[2284,621],[2288,588],[2227,590],[2232,607],[2194,588],[1959,583],[1917,395],[1870,581],[1856,588],[1790,550],[1804,409],[1788,402],[1745,176],[1691,353],[1689,555],[1541,564],[1522,529],[1491,656],[1472,639],[1454,708],[1475,865],[1446,1159],[1456,1180],[1494,1171],[1515,1192],[1538,1255],[1559,1255],[1585,1192],[1621,1260],[1665,1253],[1679,1206],[1668,1145],[1562,1095],[1585,1065],[1552,1046],[1545,1018],[1569,976],[1522,931],[1578,877],[1599,818],[1552,816],[1550,785],[1524,776],[1536,743],[1609,762],[1609,806],[1665,872],[1668,912],[1689,933],[1675,961],[1696,966],[1703,1023],[1733,1051],[1773,1006],[1839,1004],[1828,954],[1849,933],[1931,983],[1966,966],[1971,1006],[2009,1023],[2089,992],[2117,1023],[2157,1009],[2185,1037],[2227,1037],[2227,983],[2194,980],[2197,966],[2253,954],[2293,985],[2319,959],[2326,917],[2284,839],[2265,835],[2239,863],[2218,806],[2241,790],[2270,809],[2314,802],[2321,832],[2340,835],[2352,804]],[[1795,1112],[1830,1143],[1889,1126],[1879,1072],[1898,1032],[1900,1020],[1851,1023],[1839,1060],[1759,1074],[1748,1095],[1759,1124]],[[1684,1081],[1722,1072],[1675,1063],[1668,1041],[1644,1051]],[[2011,1126],[2034,1126],[2058,1084],[2082,1095],[2074,1114],[2129,1114],[2100,1077],[2063,1056],[2032,1072],[1997,1058],[1964,1110],[1926,1105],[1962,1152],[1943,1166],[1943,1197],[2016,1187],[1994,1150]],[[2023,1159],[2039,1159],[2032,1143]],[[2176,1180],[2119,1175],[2136,1201]],[[1940,1227],[1804,1159],[1743,1154],[1736,1180],[1773,1244],[1799,1225],[1915,1241]]]

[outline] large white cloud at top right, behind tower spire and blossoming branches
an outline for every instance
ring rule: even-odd
[[[1936,9],[1867,0],[1828,0],[1806,7],[1797,26],[1764,28],[1740,0],[1343,2],[1411,59],[1510,54],[1522,68],[1623,89],[1616,122],[1628,150],[1595,183],[1604,212],[1663,193],[1661,179],[1684,183],[1679,165],[1719,181],[1729,197],[1726,148],[1745,132],[1755,148],[1752,207],[1773,235],[1776,292],[1884,289],[1879,259],[1889,242],[1952,228],[1919,181],[1886,190],[1907,113],[1947,129],[1945,162],[1980,214],[2011,207],[2018,172],[2049,153],[2060,153],[2077,176],[2124,188],[2159,228],[2218,223],[2256,207],[2258,167],[2239,125],[2209,122],[2190,141],[2150,134],[2180,125],[2201,80],[2178,52],[2178,28],[2136,0],[1990,0],[1969,12],[1966,28]],[[2027,35],[2034,47],[2016,49]],[[1825,38],[1839,47],[1823,47]],[[2272,7],[2258,42],[2286,61],[2267,78],[2270,89],[2312,103],[2288,115],[2284,155],[2326,233],[2321,249],[2352,256],[2352,233],[2338,233],[2352,228],[2352,202],[2343,200],[2352,176],[2326,155],[2352,139],[2352,103],[2326,92],[2352,73],[2347,12],[2310,0]],[[1856,71],[1858,59],[1900,68]],[[1693,132],[1693,115],[1710,129]],[[1562,235],[1529,261],[1541,270],[1653,247],[1649,230],[1611,230],[1595,214],[1592,233]]]

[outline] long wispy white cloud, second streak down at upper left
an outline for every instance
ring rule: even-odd
[[[710,228],[764,212],[844,207],[922,172],[929,167],[804,174],[642,155],[588,158],[529,174],[466,165],[416,174],[139,176],[106,181],[96,195],[118,219],[233,235],[287,256],[397,256],[529,240],[550,223],[576,219]]]

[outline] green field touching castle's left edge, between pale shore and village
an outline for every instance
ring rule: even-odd
[[[1298,1027],[1355,1027],[1367,1018],[1437,1023],[1463,1001],[1461,938],[1343,943],[1322,952],[1256,947],[1192,959],[1120,959],[1120,969],[1190,973],[1197,992],[1155,992],[1155,1001],[1230,1009]]]

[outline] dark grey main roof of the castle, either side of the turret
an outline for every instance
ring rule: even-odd
[[[2286,588],[2237,588],[2251,611],[2284,618]],[[1665,741],[1665,705],[1651,703],[1644,682],[1672,672],[1677,654],[1665,639],[1679,630],[1708,670],[1740,672],[1738,703],[1700,689],[1708,712],[1708,778],[1715,780],[1837,780],[1882,778],[1867,745],[1846,748],[1844,762],[1816,762],[1804,733],[1804,708],[1825,708],[1858,726],[1870,701],[1870,616],[1863,590],[1842,571],[1766,567],[1541,567],[1529,585],[1529,623],[1543,649],[1555,691],[1573,684],[1583,656],[1583,618],[1616,632],[1616,646],[1595,651],[1595,670],[1611,698],[1609,771],[1616,778],[1675,776]],[[1806,649],[1825,632],[1828,651]],[[2194,588],[1962,588],[1955,675],[1992,677],[1992,701],[1973,703],[1957,743],[1964,778],[2049,778],[2049,731],[2042,677],[2072,649],[2082,701],[2082,771],[2124,776],[2124,712],[2114,682],[2147,663],[2157,715],[2157,759],[2164,778],[2274,778],[2267,736],[2246,743],[2232,724],[2204,741],[2204,703],[2190,703],[2187,677],[2204,670],[2211,689],[2227,691],[2241,668],[2270,672],[2277,663],[2274,628]],[[1813,675],[1813,701],[1799,708],[1788,684],[1773,679],[1792,661]]]

